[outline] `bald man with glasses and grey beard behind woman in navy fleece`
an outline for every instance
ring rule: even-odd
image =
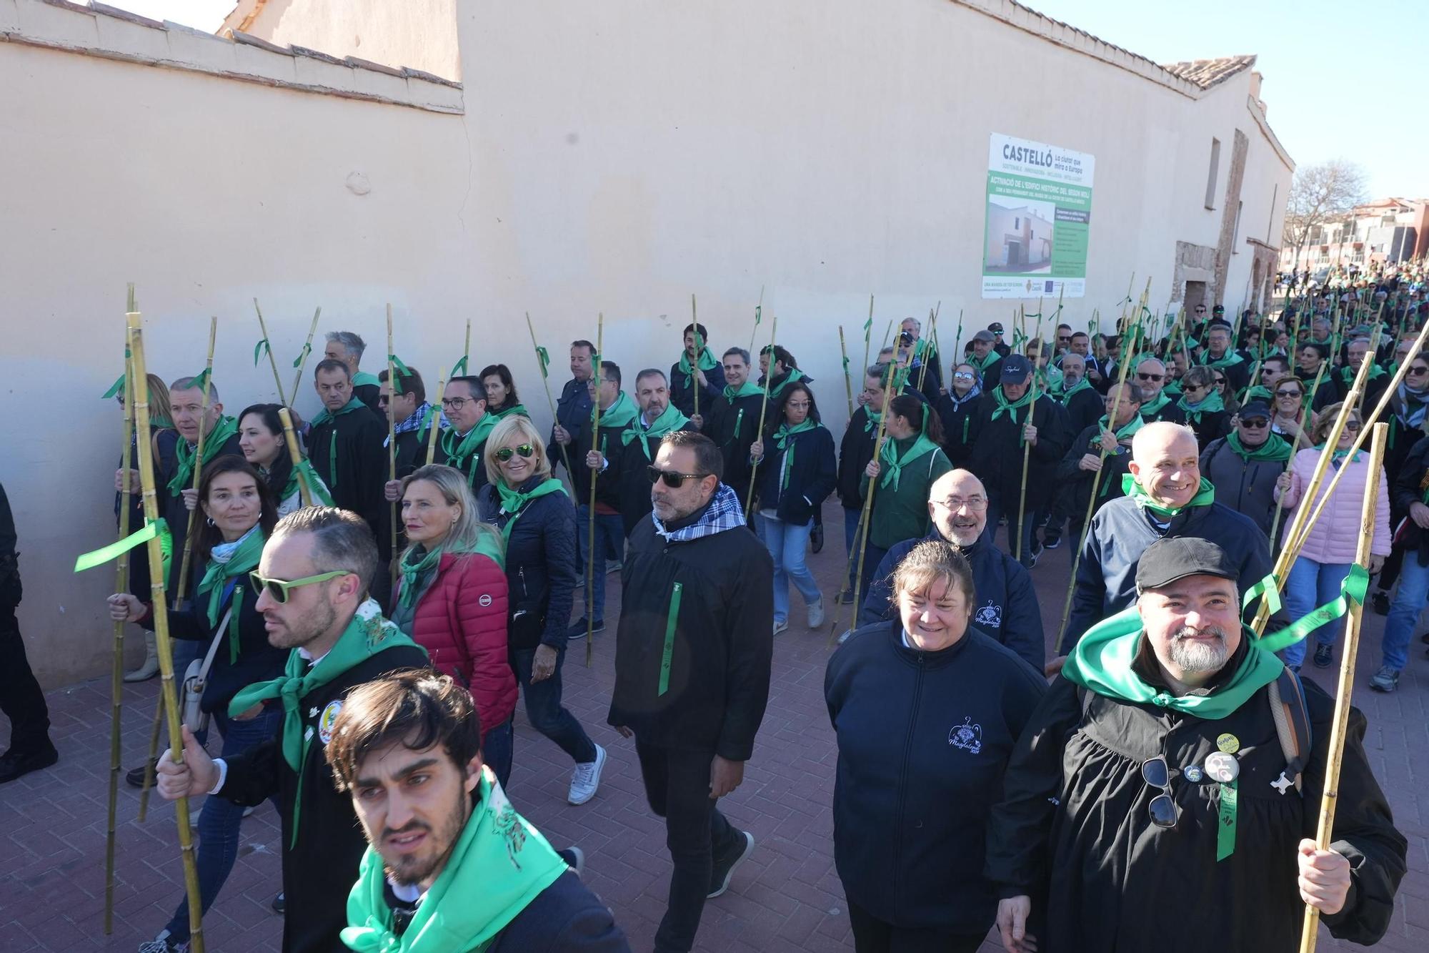
[[[1046,640],[1042,610],[1032,577],[1016,559],[983,535],[987,525],[987,491],[966,469],[952,469],[927,491],[927,514],[933,531],[923,539],[950,544],[973,568],[973,627],[1017,653],[1029,665],[1042,671]],[[890,580],[897,564],[923,539],[899,542],[879,562],[869,587],[869,597],[859,610],[859,625],[893,618]]]

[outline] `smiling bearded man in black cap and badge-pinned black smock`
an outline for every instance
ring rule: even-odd
[[[1365,717],[1350,710],[1335,827],[1316,844],[1335,701],[1242,627],[1239,575],[1205,539],[1152,544],[1135,607],[1052,683],[989,820],[1007,950],[1290,952],[1305,904],[1336,937],[1385,934],[1408,844]],[[1172,897],[1193,924],[1167,919]]]

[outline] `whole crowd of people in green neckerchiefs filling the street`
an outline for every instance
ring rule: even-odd
[[[517,695],[572,760],[567,801],[600,790],[607,753],[563,704],[562,668],[604,631],[619,572],[607,723],[634,740],[666,827],[657,952],[692,949],[706,900],[755,849],[717,800],[755,754],[775,640],[837,612],[850,624],[825,681],[833,846],[860,953],[976,950],[993,926],[1010,950],[1290,949],[1305,903],[1336,936],[1373,942],[1406,843],[1358,713],[1333,843],[1313,841],[1332,700],[1298,673],[1308,654],[1333,664],[1335,627],[1270,651],[1242,597],[1298,508],[1319,504],[1309,476],[1368,356],[1332,451],[1346,478],[1268,631],[1352,575],[1376,475],[1348,449],[1383,419],[1368,570],[1389,620],[1369,684],[1396,688],[1429,598],[1429,358],[1415,353],[1373,411],[1426,318],[1416,288],[1389,282],[1233,322],[1196,305],[1155,335],[1059,323],[1009,342],[995,322],[950,362],[907,318],[857,373],[837,441],[790,351],[716,356],[697,323],[669,372],[640,369],[629,388],[629,371],[572,342],[546,434],[506,365],[453,378],[433,405],[420,372],[366,373],[362,338],[332,332],[297,459],[283,408],[229,416],[211,381],[150,375],[174,671],[201,667],[204,717],[186,723],[181,761],[129,781],[210,796],[204,910],[246,810],[276,804],[284,950],[629,949],[579,880],[579,847],[552,847],[507,800]],[[116,515],[140,525],[137,471],[114,487]],[[830,497],[846,571],[823,592],[807,554]],[[13,622],[3,504],[0,781],[57,758]],[[1065,541],[1076,570],[1049,632],[1033,572]],[[107,610],[146,630],[126,675],[143,680],[154,607],[133,562]],[[1278,707],[1299,727],[1289,741]],[[1153,920],[1169,891],[1206,912],[1195,932]],[[181,897],[141,950],[186,949],[189,929]]]

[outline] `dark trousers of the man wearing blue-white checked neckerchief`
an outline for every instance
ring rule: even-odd
[[[674,861],[670,903],[654,932],[656,953],[687,953],[700,927],[714,859],[743,847],[743,837],[710,797],[713,751],[679,751],[636,741],[650,810],[664,818],[664,844]]]

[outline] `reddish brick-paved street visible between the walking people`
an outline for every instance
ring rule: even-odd
[[[829,545],[812,558],[823,591],[837,590],[843,568],[842,512],[825,508]],[[1069,571],[1063,547],[1035,570],[1047,631],[1062,610]],[[612,577],[612,582],[614,577]],[[797,597],[795,605],[799,605]],[[517,715],[516,768],[510,794],[559,847],[586,851],[586,883],[609,903],[636,950],[649,950],[664,909],[669,859],[663,826],[649,813],[630,743],[604,725],[612,684],[619,591],[607,607],[610,630],[597,637],[594,667],[584,648],[566,660],[566,704],[610,751],[596,798],[566,804],[569,761]],[[795,611],[799,621],[802,610]],[[1379,663],[1383,618],[1366,612],[1356,701],[1369,717],[1366,747],[1409,837],[1410,874],[1379,949],[1429,950],[1429,661],[1418,642],[1393,695],[1362,688]],[[96,631],[107,640],[109,630]],[[753,831],[757,850],[730,891],[709,903],[696,949],[710,952],[852,950],[843,893],[833,870],[830,798],[835,747],[823,707],[827,628],[795,625],[775,648],[769,713],[745,784],[723,808]],[[1310,671],[1330,687],[1333,674]],[[124,766],[140,763],[157,681],[124,695]],[[139,794],[120,788],[114,933],[103,936],[104,824],[109,766],[109,683],[96,680],[50,693],[60,764],[0,787],[0,950],[133,950],[153,937],[179,901],[181,871],[171,808],[154,798],[147,823],[136,820]],[[0,735],[9,725],[0,725]],[[194,804],[197,808],[197,804]],[[276,950],[280,922],[269,910],[277,891],[279,837],[272,807],[243,827],[240,857],[204,919],[210,950]],[[1170,901],[1173,899],[1167,899]],[[1210,912],[1205,912],[1210,913]],[[1185,929],[1183,917],[1169,929]],[[1322,933],[1320,949],[1349,949]],[[1000,949],[995,942],[983,950]]]

